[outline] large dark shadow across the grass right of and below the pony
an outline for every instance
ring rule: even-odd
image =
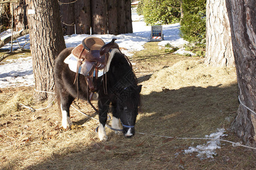
[[[204,137],[217,128],[230,127],[238,108],[237,84],[229,87],[184,87],[179,90],[151,92],[142,95],[141,113],[136,130],[172,137]],[[86,120],[77,121],[83,123]],[[39,164],[25,169],[179,169],[242,168],[243,148],[228,148],[213,160],[200,160],[195,155],[177,154],[188,148],[188,141],[167,140],[137,134],[127,139],[108,131],[109,141],[93,141],[90,145],[76,142],[64,154],[52,153]],[[195,141],[194,141],[195,142]],[[193,142],[193,143],[194,143]],[[190,143],[190,142],[189,142]],[[195,142],[198,143],[198,142]],[[204,142],[203,142],[204,143]],[[227,150],[224,146],[221,150]],[[238,153],[237,153],[238,152]],[[176,154],[176,156],[175,156]],[[250,152],[247,153],[251,156]],[[223,156],[229,162],[223,161]],[[254,155],[255,156],[255,155]],[[237,162],[236,160],[241,161]],[[184,163],[184,161],[186,162]],[[250,168],[255,168],[247,159]],[[6,167],[3,169],[9,169]]]

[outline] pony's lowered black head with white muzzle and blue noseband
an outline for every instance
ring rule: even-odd
[[[117,99],[117,112],[123,126],[123,135],[132,137],[135,134],[135,121],[141,103],[142,85],[123,88]]]

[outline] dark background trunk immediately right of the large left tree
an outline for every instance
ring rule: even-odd
[[[60,1],[60,18],[64,35],[72,35],[75,33],[75,11],[73,2],[73,0]]]

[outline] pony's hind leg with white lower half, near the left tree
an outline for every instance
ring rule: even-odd
[[[69,128],[73,125],[72,121],[70,120],[69,108],[72,104],[74,98],[71,96],[65,97],[65,99],[60,99],[60,111],[62,116],[62,126],[64,129]]]

